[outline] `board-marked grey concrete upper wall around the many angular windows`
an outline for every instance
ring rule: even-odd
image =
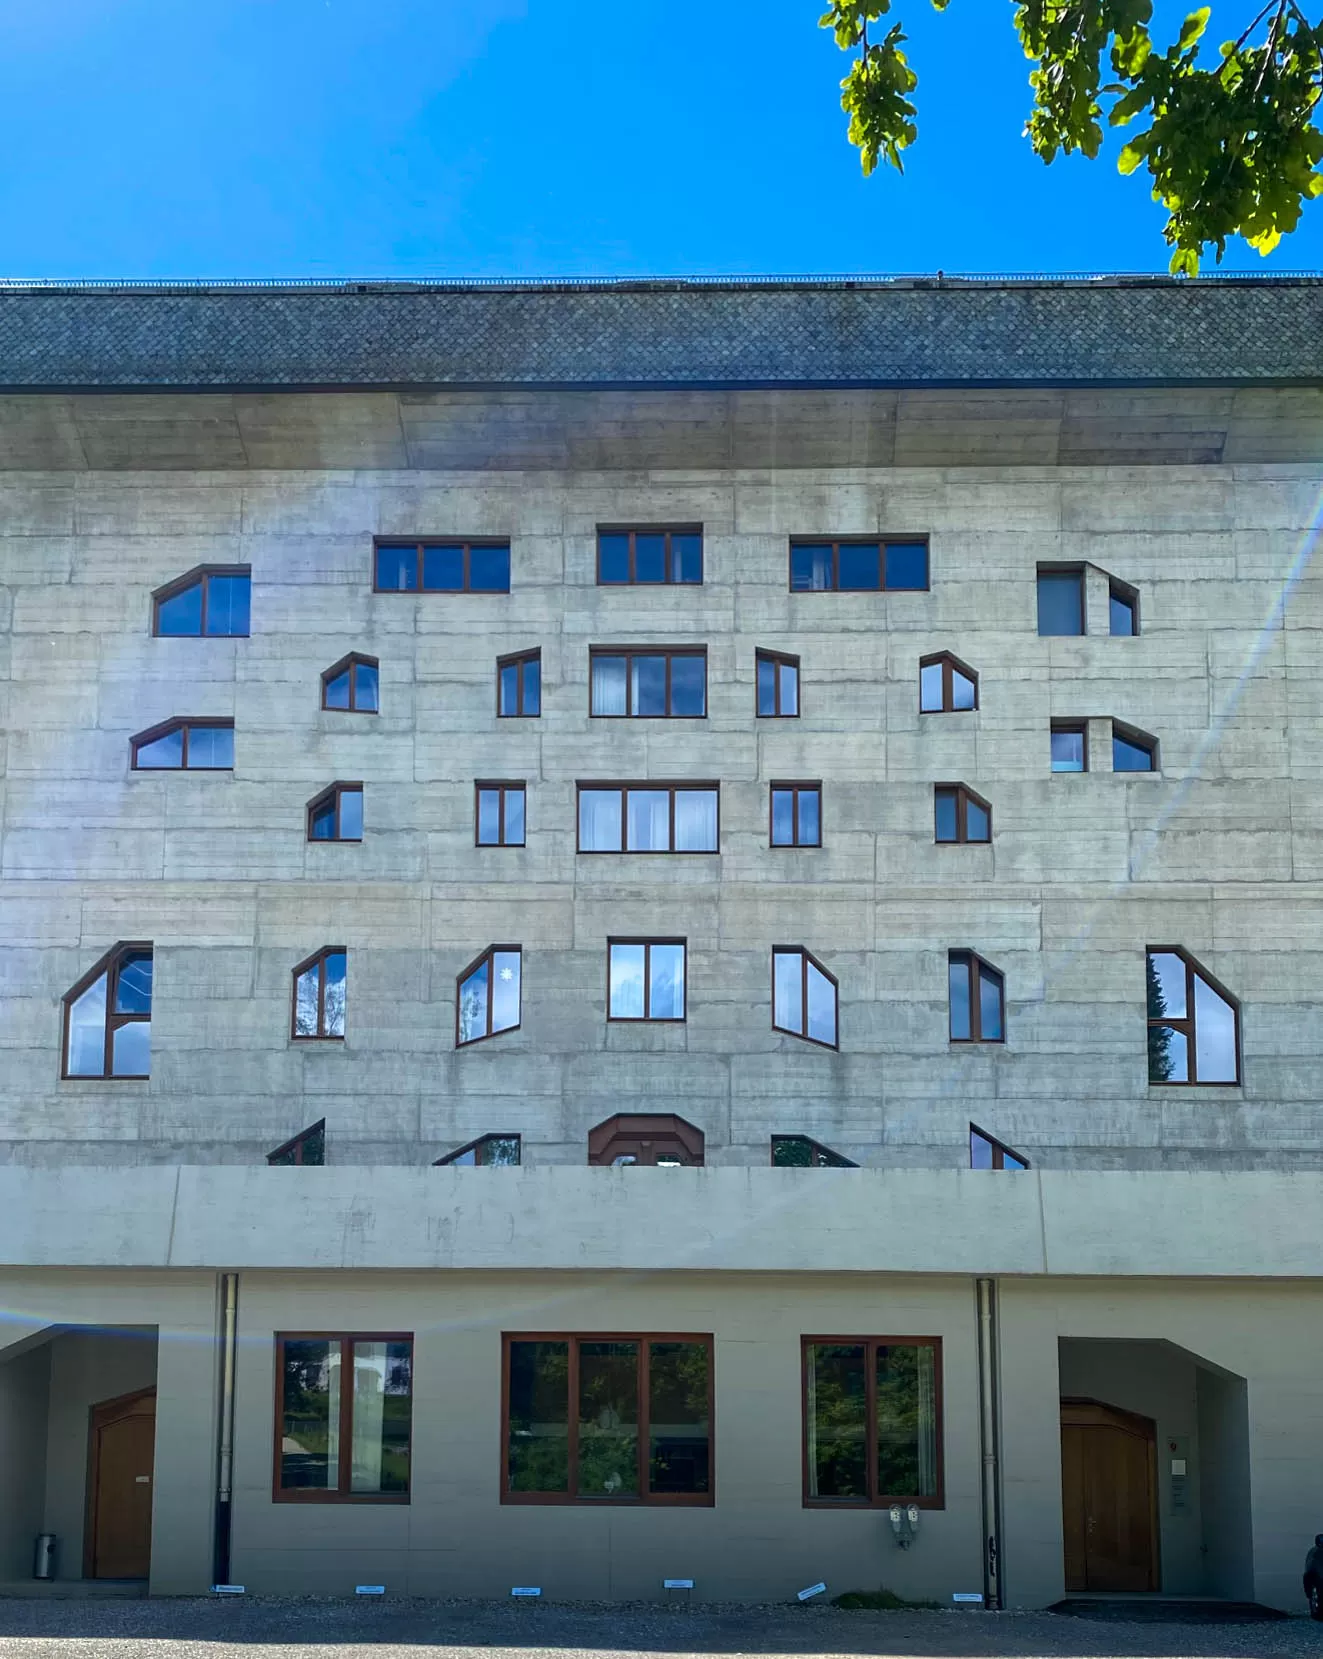
[[[1049,1165],[1323,1166],[1320,468],[810,469],[797,445],[765,471],[7,474],[0,1155],[254,1163],[325,1117],[335,1161],[516,1130],[574,1163],[599,1118],[666,1107],[714,1163],[805,1131],[959,1165],[974,1118]],[[596,587],[604,521],[701,521],[705,584]],[[931,536],[930,594],[787,592],[790,534],[876,531]],[[373,533],[510,534],[515,589],[373,596]],[[1069,559],[1139,589],[1140,639],[1036,635],[1034,567]],[[252,639],[151,639],[151,589],[203,561],[251,562]],[[588,718],[589,645],[631,640],[707,644],[705,722]],[[535,645],[544,713],[498,722],[495,657]],[[800,720],[754,718],[759,645],[800,654]],[[319,710],[350,649],[380,657],[377,717]],[[978,712],[920,717],[940,649]],[[236,718],[232,776],[129,773],[176,713]],[[1051,776],[1052,717],[1155,733],[1164,775]],[[493,775],[528,780],[523,851],[471,844]],[[574,780],[649,776],[722,781],[720,854],[576,856]],[[823,780],[820,851],[765,846],[784,776]],[[360,846],[304,839],[332,778],[365,783]],[[946,780],[993,803],[991,846],[933,844]],[[606,937],[657,931],[689,939],[687,1024],[608,1027]],[[153,1078],[60,1083],[60,997],[126,937],[156,946]],[[493,941],[525,947],[523,1027],[456,1053],[455,974]],[[290,969],[332,942],[347,1042],[295,1047]],[[840,1053],[770,1030],[780,942],[840,977]],[[1243,1088],[1149,1088],[1150,942],[1243,1000]],[[1004,971],[1004,1047],[950,1047],[951,947]]]

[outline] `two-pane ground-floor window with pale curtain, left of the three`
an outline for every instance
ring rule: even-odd
[[[277,1503],[408,1503],[412,1427],[412,1335],[277,1332]]]

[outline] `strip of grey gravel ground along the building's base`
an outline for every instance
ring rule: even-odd
[[[1323,1624],[1137,1624],[1049,1613],[604,1608],[475,1601],[0,1601],[3,1659],[1323,1659]]]

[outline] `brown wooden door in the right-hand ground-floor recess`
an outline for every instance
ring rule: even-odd
[[[1155,1440],[1147,1417],[1061,1402],[1067,1589],[1157,1589]]]

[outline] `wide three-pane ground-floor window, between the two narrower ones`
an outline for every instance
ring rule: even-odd
[[[712,1503],[710,1335],[506,1335],[501,1503]]]

